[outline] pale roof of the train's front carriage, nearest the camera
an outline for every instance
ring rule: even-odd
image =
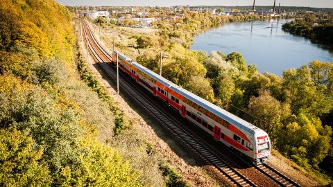
[[[232,125],[235,125],[241,130],[244,130],[245,132],[248,132],[249,134],[255,136],[256,132],[261,134],[260,132],[264,132],[264,130],[260,129],[259,127],[256,127],[255,125],[248,123],[242,118],[239,118],[235,116],[234,114],[231,114],[230,112],[225,111],[224,109],[221,109],[220,107],[210,103],[209,101],[200,98],[199,96],[196,96],[196,94],[191,93],[190,91],[187,91],[186,89],[183,89],[182,87],[179,87],[176,84],[173,84],[170,89],[173,89],[173,91],[178,92],[178,94],[181,94],[182,96],[185,96],[189,100],[193,101],[194,103],[200,105],[201,107],[204,107],[205,109],[209,110],[210,112],[213,112],[216,116],[219,116],[220,118],[225,119],[229,123],[232,123]],[[266,133],[266,132],[265,132]]]

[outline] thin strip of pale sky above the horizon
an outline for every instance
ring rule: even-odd
[[[253,0],[56,0],[69,6],[252,6]],[[273,6],[274,0],[256,0],[257,6]],[[333,0],[276,0],[281,6],[333,8]]]

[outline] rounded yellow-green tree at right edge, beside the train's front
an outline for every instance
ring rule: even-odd
[[[298,164],[318,168],[318,163],[329,154],[332,127],[321,124],[319,118],[298,114],[280,132],[279,150],[289,155]]]

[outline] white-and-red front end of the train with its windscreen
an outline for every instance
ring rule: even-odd
[[[255,164],[266,163],[271,154],[271,141],[269,140],[268,134],[260,130],[255,133],[255,141]]]

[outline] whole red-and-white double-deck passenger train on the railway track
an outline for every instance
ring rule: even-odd
[[[181,116],[214,136],[217,141],[246,155],[253,163],[266,163],[271,153],[271,141],[264,130],[182,89],[119,51],[113,51],[112,63],[117,64],[117,56],[119,69],[128,73],[153,96],[169,103]]]

